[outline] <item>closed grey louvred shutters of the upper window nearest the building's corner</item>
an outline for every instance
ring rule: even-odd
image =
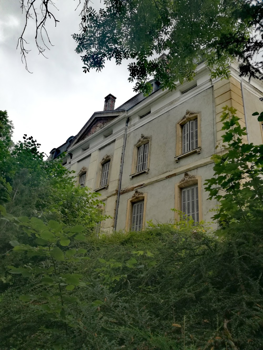
[[[188,121],[182,126],[182,153],[193,151],[198,147],[197,118]]]

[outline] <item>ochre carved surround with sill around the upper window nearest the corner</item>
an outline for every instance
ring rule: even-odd
[[[198,147],[183,153],[182,151],[182,129],[183,125],[188,123],[190,120],[197,119],[197,132],[198,132]],[[200,112],[193,112],[193,111],[186,111],[186,114],[183,116],[183,118],[176,124],[176,149],[175,149],[175,161],[176,163],[179,162],[181,158],[184,158],[188,156],[189,154],[193,153],[201,153],[201,113]]]

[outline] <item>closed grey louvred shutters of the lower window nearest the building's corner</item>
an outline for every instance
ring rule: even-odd
[[[194,222],[199,222],[198,186],[190,186],[182,189],[182,212],[191,216]]]

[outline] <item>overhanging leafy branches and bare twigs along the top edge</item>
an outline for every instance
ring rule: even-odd
[[[45,29],[48,19],[59,22],[50,8],[52,1],[40,1],[40,13],[35,0],[22,0],[26,22],[34,19],[36,45],[45,50]],[[242,76],[262,76],[263,60],[258,54],[263,48],[263,3],[261,0],[79,0],[80,33],[73,34],[76,52],[81,55],[83,71],[101,71],[105,61],[114,59],[129,63],[129,80],[137,81],[135,90],[148,93],[145,85],[154,76],[162,87],[173,89],[175,82],[191,80],[196,66],[207,60],[212,77],[228,76],[228,59],[240,60]],[[62,5],[63,6],[63,5]],[[22,58],[25,48],[25,28],[19,43]],[[41,42],[41,43],[40,43]],[[162,55],[166,54],[166,55]],[[161,59],[155,57],[162,55]],[[256,58],[255,58],[256,57]]]

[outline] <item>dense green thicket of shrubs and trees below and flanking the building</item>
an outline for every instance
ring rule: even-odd
[[[12,145],[2,112],[0,349],[263,348],[263,146],[242,144],[234,109],[222,120],[206,184],[219,231],[182,219],[98,237],[99,200],[32,138]]]

